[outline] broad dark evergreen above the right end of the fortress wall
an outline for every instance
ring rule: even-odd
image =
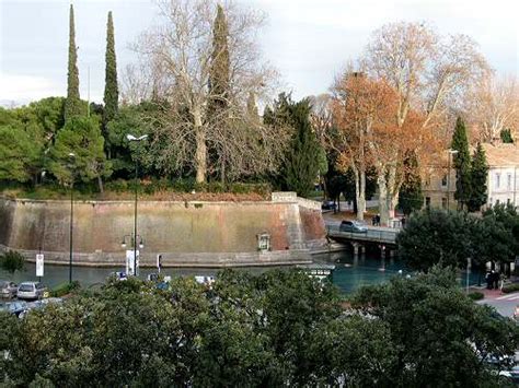
[[[289,110],[295,133],[285,163],[284,179],[286,189],[304,197],[318,178],[320,144],[310,122],[310,102],[302,99],[292,104]]]

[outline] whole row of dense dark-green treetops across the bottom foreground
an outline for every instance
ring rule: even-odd
[[[493,378],[485,360],[518,345],[518,328],[448,270],[339,302],[297,270],[226,270],[210,287],[177,278],[169,291],[113,279],[22,320],[0,314],[0,366],[16,386],[478,387]]]

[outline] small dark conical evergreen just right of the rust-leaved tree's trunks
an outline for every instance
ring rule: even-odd
[[[404,158],[404,179],[399,193],[399,207],[408,215],[414,210],[422,209],[424,196],[422,193],[422,178],[418,172],[416,154],[410,152]]]

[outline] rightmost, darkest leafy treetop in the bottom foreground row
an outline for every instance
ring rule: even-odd
[[[519,340],[516,324],[473,303],[449,269],[365,287],[353,306],[384,322],[391,333],[396,361],[394,369],[387,369],[387,386],[498,386],[486,361],[493,355],[503,360],[497,367],[509,367]]]

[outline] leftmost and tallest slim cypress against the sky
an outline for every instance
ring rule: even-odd
[[[69,20],[69,64],[67,78],[67,102],[65,104],[65,120],[82,114],[79,97],[78,52],[76,47],[76,27],[73,22],[73,7],[70,4]]]

